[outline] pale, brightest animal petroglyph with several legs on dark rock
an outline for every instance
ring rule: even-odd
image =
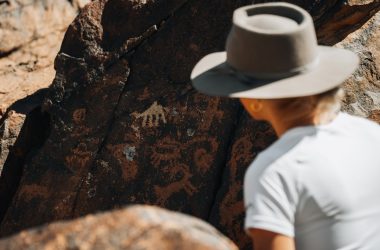
[[[142,127],[158,127],[160,121],[166,124],[165,111],[167,108],[162,107],[154,102],[147,110],[142,113],[133,112],[132,115],[136,119],[142,118]]]

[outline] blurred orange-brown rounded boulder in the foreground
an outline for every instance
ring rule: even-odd
[[[32,243],[32,244],[31,244]],[[237,250],[209,224],[150,206],[89,215],[0,240],[3,250]]]

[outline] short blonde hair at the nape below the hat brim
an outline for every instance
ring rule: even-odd
[[[321,94],[270,100],[276,115],[287,125],[309,124],[315,117],[324,119],[340,110],[344,91],[337,87]]]

